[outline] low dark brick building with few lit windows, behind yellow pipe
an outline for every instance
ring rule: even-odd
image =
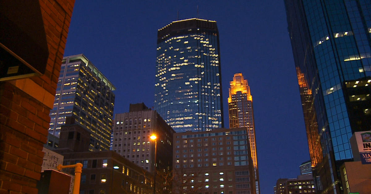
[[[80,194],[153,192],[153,174],[114,151],[71,152],[63,156],[64,165],[83,164]]]

